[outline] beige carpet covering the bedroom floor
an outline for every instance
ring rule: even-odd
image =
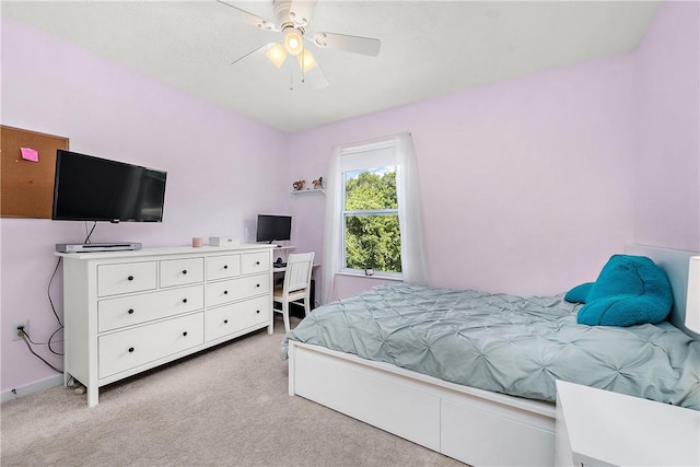
[[[292,318],[292,326],[296,323]],[[2,405],[2,466],[458,466],[287,394],[281,317],[115,383],[88,408],[60,386]]]

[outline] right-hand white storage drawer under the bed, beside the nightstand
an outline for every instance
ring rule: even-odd
[[[468,459],[471,465],[555,465],[553,420],[525,410],[515,413],[509,407],[499,412],[498,406],[489,404],[487,408],[477,398],[465,401],[445,397],[441,406],[441,452]]]

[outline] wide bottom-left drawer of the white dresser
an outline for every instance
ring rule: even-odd
[[[100,377],[182,352],[205,342],[203,312],[101,336]]]

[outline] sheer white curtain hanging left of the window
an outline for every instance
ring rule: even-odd
[[[326,182],[326,224],[324,225],[324,259],[322,303],[329,303],[336,272],[340,270],[340,225],[342,214],[342,177],[340,175],[340,147],[330,155]]]

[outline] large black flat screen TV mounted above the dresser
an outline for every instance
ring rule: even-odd
[[[166,173],[77,152],[56,152],[56,221],[162,222]]]

